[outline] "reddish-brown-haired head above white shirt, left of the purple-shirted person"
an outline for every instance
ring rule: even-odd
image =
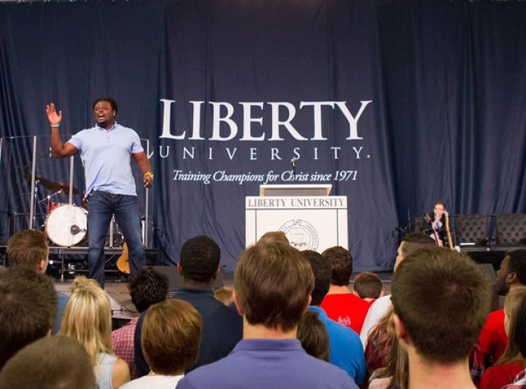
[[[154,374],[179,375],[197,360],[203,321],[182,300],[164,300],[146,312],[141,345]]]

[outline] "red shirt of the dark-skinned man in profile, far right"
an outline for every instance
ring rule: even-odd
[[[493,363],[504,354],[508,344],[508,336],[504,329],[504,309],[493,311],[488,315],[478,337],[478,344],[484,354],[491,355]]]

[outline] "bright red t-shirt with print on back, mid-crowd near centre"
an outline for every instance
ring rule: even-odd
[[[363,327],[363,320],[374,300],[365,301],[354,293],[327,294],[320,307],[329,318],[354,329],[359,334]]]

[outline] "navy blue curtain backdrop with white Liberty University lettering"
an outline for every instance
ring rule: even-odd
[[[245,196],[332,183],[355,269],[388,269],[408,209],[526,211],[524,20],[520,1],[2,3],[0,136],[48,136],[53,101],[65,141],[113,96],[150,142],[161,262],[205,234],[232,271]],[[29,141],[9,147],[28,163]],[[27,196],[18,184],[0,188],[1,212]]]

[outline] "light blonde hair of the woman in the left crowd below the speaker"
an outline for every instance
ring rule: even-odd
[[[113,354],[111,305],[107,294],[95,280],[84,276],[73,280],[59,334],[80,341],[93,364],[97,361],[97,354]]]

